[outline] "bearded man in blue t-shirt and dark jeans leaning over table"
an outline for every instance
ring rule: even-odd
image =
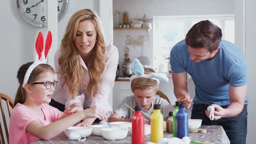
[[[191,105],[187,73],[195,83],[192,119],[202,125],[222,125],[231,143],[246,143],[247,66],[243,52],[222,40],[222,29],[212,22],[200,21],[177,43],[170,53],[174,94]],[[215,108],[210,120],[207,107]]]

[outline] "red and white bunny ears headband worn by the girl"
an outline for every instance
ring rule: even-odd
[[[51,31],[48,31],[44,46],[43,34],[42,32],[38,32],[36,43],[34,44],[36,48],[34,49],[34,62],[26,71],[22,87],[24,87],[27,84],[28,78],[30,77],[30,74],[32,73],[33,69],[36,68],[39,64],[46,63],[46,59],[48,56],[48,52],[51,48],[52,41],[53,38],[51,35]]]

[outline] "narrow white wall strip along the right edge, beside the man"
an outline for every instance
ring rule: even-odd
[[[248,90],[247,95],[249,99],[248,105],[248,132],[247,132],[247,143],[255,143],[255,133],[256,133],[256,77],[255,77],[255,63],[256,63],[256,1],[255,0],[246,0],[246,60],[248,67]]]

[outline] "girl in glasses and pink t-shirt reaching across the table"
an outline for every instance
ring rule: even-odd
[[[18,70],[17,78],[20,86],[10,117],[10,144],[52,139],[85,118],[106,119],[104,111],[98,107],[65,117],[65,113],[48,105],[57,86],[54,69],[48,64],[41,63],[32,69],[27,82],[24,82],[27,77],[25,74],[31,66],[33,66],[32,62],[29,62],[21,65]]]

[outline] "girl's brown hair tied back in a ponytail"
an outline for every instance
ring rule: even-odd
[[[24,81],[24,77],[25,77],[25,74],[27,72],[27,69],[30,67],[30,65],[32,63],[33,62],[28,62],[26,64],[23,64],[23,65],[21,65],[21,67],[18,70],[17,79],[18,79],[20,85],[19,85],[19,88],[16,92],[16,97],[15,97],[15,100],[14,100],[14,106],[17,103],[23,104],[26,100],[26,91],[22,87],[22,85],[23,85],[23,81]],[[53,67],[51,67],[48,64],[39,64],[39,65],[37,65],[37,67],[32,70],[32,73],[30,74],[30,77],[28,78],[27,83],[28,84],[34,83],[34,81],[36,81],[37,77],[40,74],[44,73],[46,70],[53,71],[53,73],[54,73]]]

